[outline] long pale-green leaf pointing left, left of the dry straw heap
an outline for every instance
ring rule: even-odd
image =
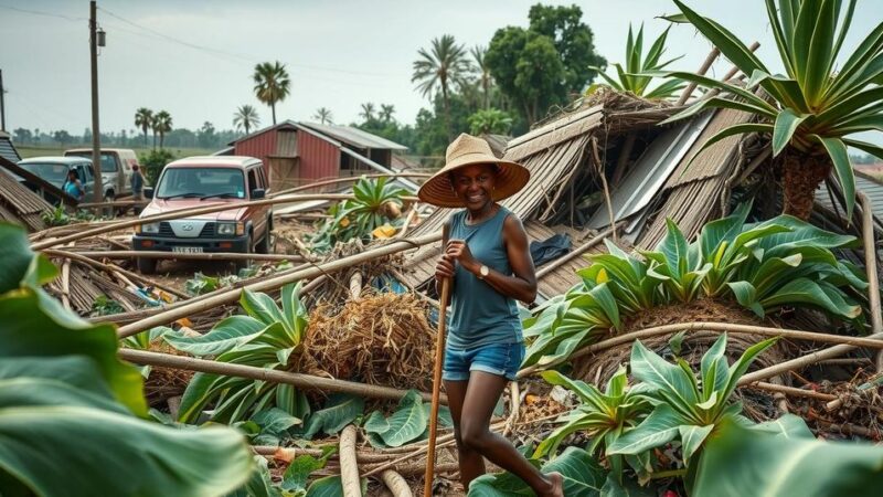
[[[231,316],[217,322],[211,331],[199,337],[188,337],[170,331],[163,340],[182,352],[193,356],[216,356],[247,343],[264,330],[267,325],[251,316]]]

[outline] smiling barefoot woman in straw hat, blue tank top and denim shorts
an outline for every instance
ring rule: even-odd
[[[524,358],[515,299],[532,303],[536,275],[528,234],[512,212],[497,203],[521,190],[530,172],[497,159],[488,144],[460,135],[447,149],[445,167],[421,187],[419,198],[451,214],[443,234],[436,284],[450,278],[450,320],[443,382],[454,419],[460,477],[485,474],[485,457],[519,476],[541,497],[563,496],[563,478],[543,475],[504,437],[490,417]]]

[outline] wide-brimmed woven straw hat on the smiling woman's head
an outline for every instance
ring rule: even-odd
[[[421,201],[437,207],[462,207],[462,200],[457,197],[454,192],[454,187],[450,184],[450,172],[476,163],[492,163],[497,166],[497,181],[493,189],[494,201],[512,197],[524,188],[531,178],[528,168],[520,163],[498,159],[490,150],[490,145],[487,141],[465,133],[448,145],[448,149],[445,152],[445,167],[421,187],[419,192],[417,192]]]

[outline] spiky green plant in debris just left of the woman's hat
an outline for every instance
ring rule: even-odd
[[[361,178],[353,187],[354,199],[344,200],[329,209],[331,219],[323,221],[310,242],[317,252],[327,252],[338,242],[373,237],[380,226],[397,224],[396,213],[401,213],[402,197],[407,194],[403,188],[386,182],[386,178]]]

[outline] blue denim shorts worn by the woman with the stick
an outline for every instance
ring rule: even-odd
[[[524,360],[524,343],[487,343],[472,349],[445,347],[443,380],[466,381],[469,371],[483,371],[507,380],[514,380],[521,361]]]

